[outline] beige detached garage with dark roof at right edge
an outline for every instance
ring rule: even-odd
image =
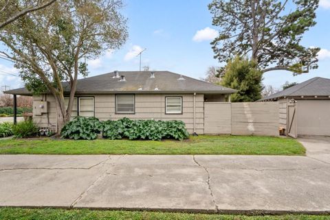
[[[330,136],[330,79],[314,77],[259,101],[278,101],[286,135]]]

